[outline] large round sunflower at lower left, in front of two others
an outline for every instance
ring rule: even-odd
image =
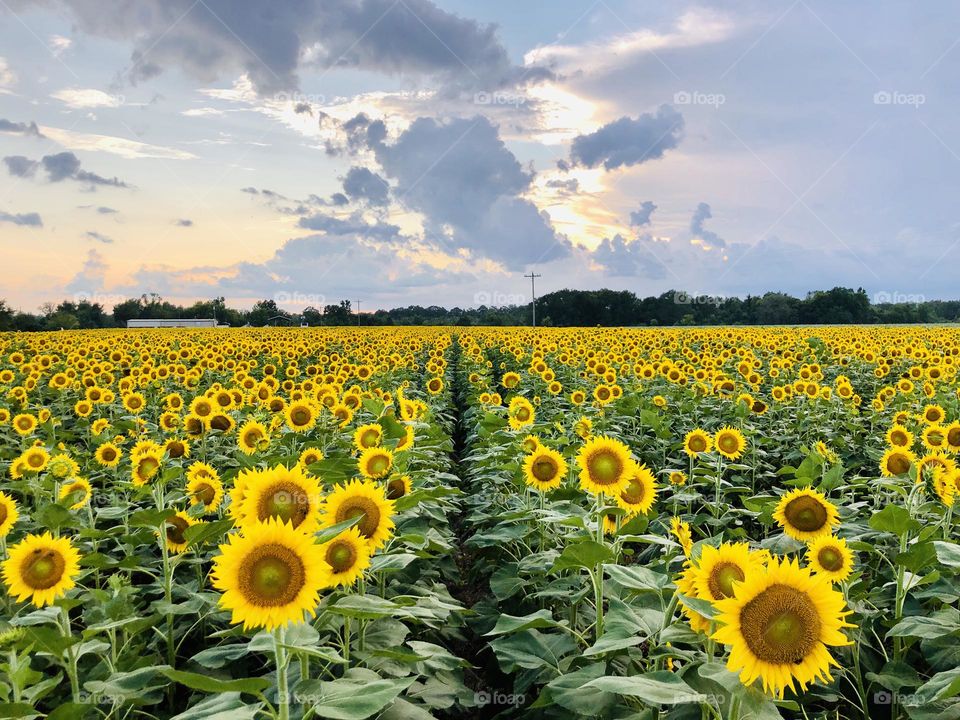
[[[213,559],[212,577],[231,622],[273,630],[316,615],[330,566],[311,536],[270,518],[229,536]]]

